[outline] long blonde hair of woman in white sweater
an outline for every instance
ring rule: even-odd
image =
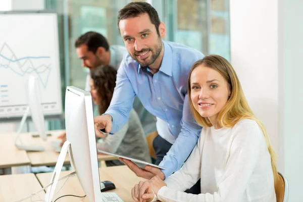
[[[260,128],[262,129],[262,132],[264,134],[267,148],[269,151],[269,154],[271,156],[271,165],[272,165],[272,170],[274,174],[274,180],[275,180],[275,185],[278,182],[278,172],[277,172],[277,165],[276,165],[276,159],[277,155],[270,143],[268,134],[265,130],[264,125],[256,118],[254,113],[252,113],[250,107],[248,106],[248,103],[245,99],[240,81],[238,79],[238,76],[231,66],[231,64],[224,59],[221,56],[217,55],[209,55],[206,56],[204,59],[198,60],[193,64],[191,67],[191,70],[189,72],[189,77],[188,77],[188,97],[189,97],[189,105],[190,109],[192,111],[192,114],[198,124],[200,124],[203,127],[211,127],[212,124],[209,122],[208,118],[201,117],[200,114],[194,109],[191,98],[190,98],[190,93],[191,93],[191,87],[190,87],[190,77],[192,71],[200,66],[203,65],[208,68],[212,68],[219,72],[223,78],[226,80],[226,82],[229,85],[230,88],[230,97],[227,100],[227,103],[225,106],[222,108],[218,115],[218,123],[220,126],[224,128],[230,128],[233,127],[237,122],[243,120],[243,119],[251,119],[254,120],[258,123]]]

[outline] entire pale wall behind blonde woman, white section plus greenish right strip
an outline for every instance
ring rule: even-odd
[[[301,0],[230,0],[231,63],[278,154],[288,201],[301,201],[303,179],[302,8]]]

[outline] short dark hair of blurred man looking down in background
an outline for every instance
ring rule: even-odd
[[[75,41],[75,47],[79,47],[83,44],[87,45],[87,50],[92,53],[96,53],[98,47],[104,47],[106,51],[109,51],[109,43],[106,38],[97,32],[89,31],[82,34]]]

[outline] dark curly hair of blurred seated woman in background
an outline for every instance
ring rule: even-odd
[[[116,86],[117,70],[110,65],[101,65],[90,71],[90,77],[100,97],[99,114],[109,108]]]

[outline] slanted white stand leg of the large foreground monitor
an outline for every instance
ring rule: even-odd
[[[64,164],[65,157],[67,155],[67,151],[71,155],[70,147],[71,147],[71,143],[68,140],[66,140],[62,146],[58,161],[56,163],[56,166],[55,166],[52,178],[51,178],[51,183],[53,182],[53,184],[47,188],[43,202],[51,202],[54,197],[54,193],[55,193],[56,186],[57,186],[57,183],[58,183],[58,180],[60,177],[60,173],[61,173],[61,170],[62,170],[62,167]]]

